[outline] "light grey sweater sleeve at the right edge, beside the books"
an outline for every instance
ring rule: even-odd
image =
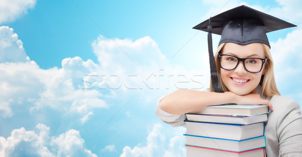
[[[288,100],[284,113],[277,121],[277,138],[279,140],[279,156],[302,156],[302,117],[298,103]],[[286,108],[285,108],[286,107]]]

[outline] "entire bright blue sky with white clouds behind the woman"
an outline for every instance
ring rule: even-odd
[[[302,4],[4,0],[0,156],[184,156],[185,129],[156,102],[208,87],[206,33],[192,27],[240,5],[298,26],[268,38],[278,89],[301,105]]]

